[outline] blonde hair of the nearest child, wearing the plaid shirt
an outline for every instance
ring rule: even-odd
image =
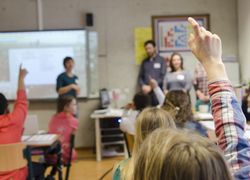
[[[221,150],[190,130],[154,131],[135,158],[135,180],[234,179]]]

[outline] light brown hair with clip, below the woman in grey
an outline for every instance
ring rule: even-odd
[[[182,90],[168,92],[161,108],[173,117],[177,126],[184,127],[188,121],[193,120],[189,96]]]

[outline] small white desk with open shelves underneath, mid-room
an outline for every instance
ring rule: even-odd
[[[97,114],[92,113],[90,115],[91,118],[95,119],[95,143],[96,143],[96,161],[100,162],[102,159],[102,153],[101,153],[101,146],[102,146],[102,136],[101,136],[101,128],[100,128],[100,119],[105,118],[121,118],[122,117],[123,110],[122,109],[112,109],[108,113],[104,114]],[[119,129],[119,128],[118,128]],[[126,148],[126,143],[123,142],[113,142],[113,143],[105,143],[105,144],[123,144],[124,145],[124,153],[125,158],[128,158],[128,152]]]

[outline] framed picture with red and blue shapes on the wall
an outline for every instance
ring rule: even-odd
[[[159,54],[190,52],[188,39],[193,29],[188,17],[193,17],[200,26],[209,30],[209,14],[152,17],[153,40]]]

